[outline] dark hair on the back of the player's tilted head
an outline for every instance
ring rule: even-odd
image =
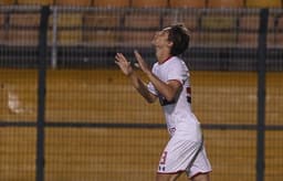
[[[171,55],[180,55],[188,47],[190,35],[188,29],[184,24],[170,25],[168,30],[168,40],[172,42]]]

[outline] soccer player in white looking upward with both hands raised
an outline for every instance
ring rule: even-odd
[[[182,172],[187,173],[188,180],[209,181],[211,172],[200,124],[191,110],[189,70],[179,57],[188,49],[189,41],[184,24],[158,31],[151,41],[157,57],[153,70],[137,51],[134,52],[137,66],[148,77],[148,84],[135,73],[122,53],[115,56],[115,63],[137,92],[148,103],[159,99],[165,114],[170,139],[160,157],[156,181],[175,181]]]

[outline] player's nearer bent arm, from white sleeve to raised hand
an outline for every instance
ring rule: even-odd
[[[146,62],[140,56],[140,54],[135,51],[135,56],[137,58],[140,70],[148,76],[151,84],[168,102],[174,100],[180,93],[182,86],[177,79],[168,81],[167,83],[160,81],[153,72],[148,68]]]

